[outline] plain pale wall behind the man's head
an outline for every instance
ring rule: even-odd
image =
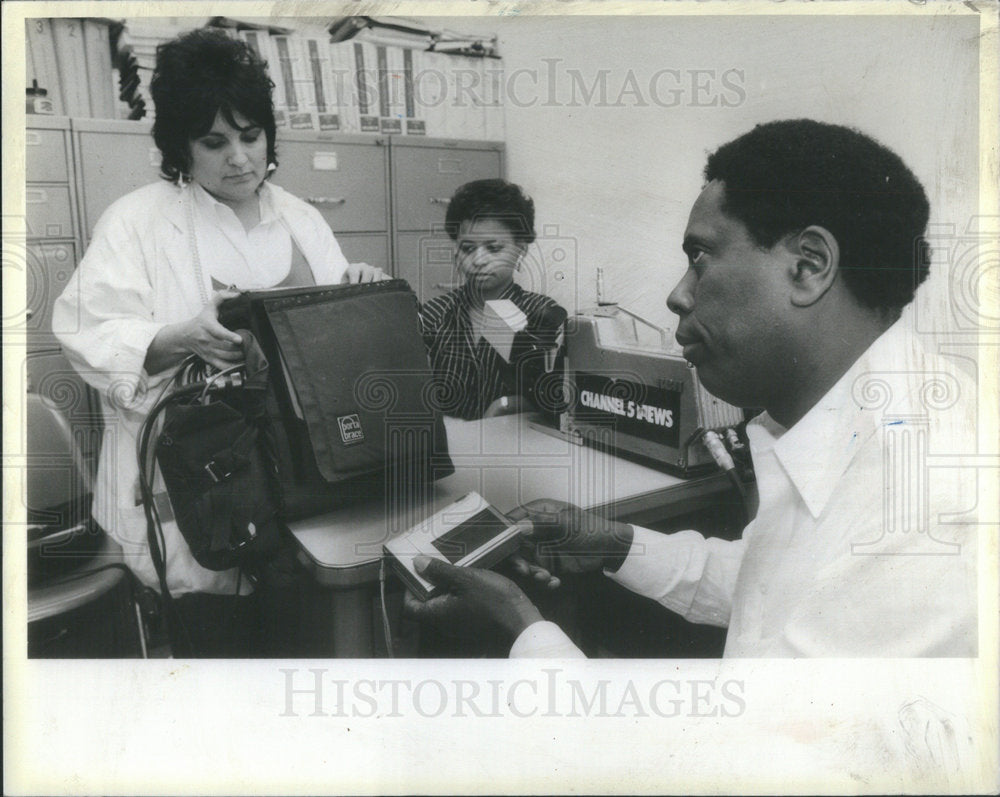
[[[923,182],[932,223],[964,230],[978,201],[977,26],[971,15],[478,20],[500,35],[509,176],[535,199],[543,250],[575,252],[575,270],[548,263],[543,287],[567,307],[593,304],[603,267],[608,299],[672,328],[664,302],[686,265],[705,155],[777,118],[874,135]],[[946,272],[919,294],[925,326],[951,323]]]

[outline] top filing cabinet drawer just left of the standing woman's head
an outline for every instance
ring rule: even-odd
[[[83,229],[89,241],[112,202],[161,179],[161,156],[146,125],[121,131],[81,130],[77,136]]]

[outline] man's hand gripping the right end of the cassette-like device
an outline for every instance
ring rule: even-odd
[[[632,547],[632,527],[627,523],[606,520],[564,501],[532,501],[508,516],[527,517],[532,523],[521,535],[522,542],[532,546],[529,556],[512,558],[515,571],[548,581],[549,586],[558,584],[556,576],[561,573],[615,572]]]

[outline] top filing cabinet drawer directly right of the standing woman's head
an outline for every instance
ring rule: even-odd
[[[276,185],[313,205],[336,232],[389,229],[385,148],[279,141]]]

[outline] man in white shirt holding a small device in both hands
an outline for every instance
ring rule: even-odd
[[[659,534],[576,507],[526,509],[522,574],[603,569],[698,623],[726,656],[974,656],[975,389],[900,320],[927,276],[928,203],[856,131],[773,122],[721,147],[667,304],[702,384],[764,407],[747,428],[760,493],[742,539]],[[964,477],[964,478],[963,478]],[[448,587],[413,616],[492,623],[512,656],[579,656],[511,581],[421,560]]]

